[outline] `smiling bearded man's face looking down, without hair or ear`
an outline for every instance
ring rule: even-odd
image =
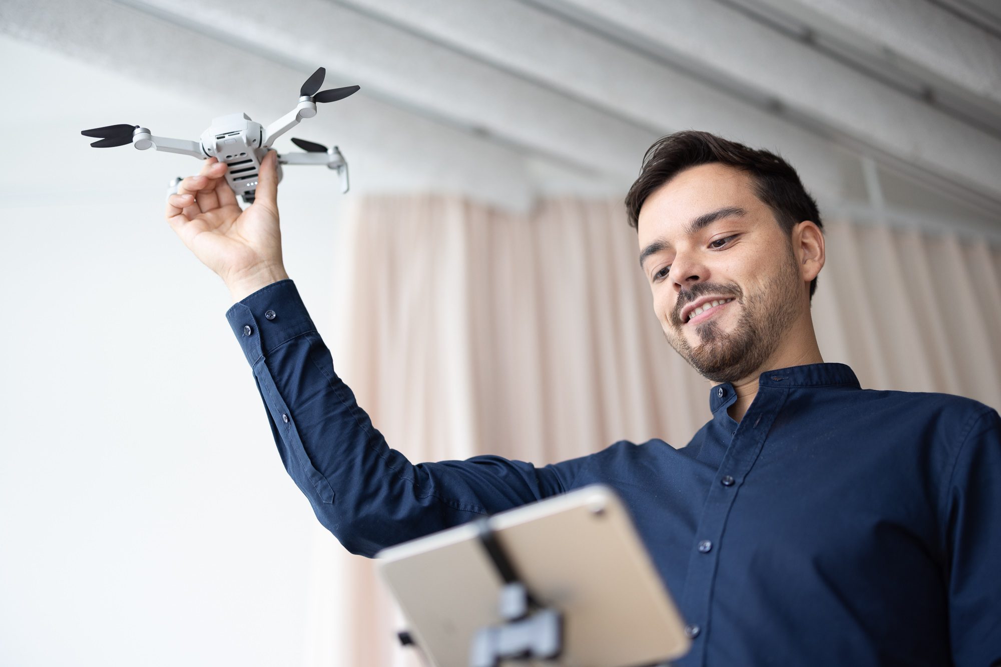
[[[654,191],[639,241],[664,335],[714,382],[767,370],[809,308],[789,235],[738,169],[692,167]]]

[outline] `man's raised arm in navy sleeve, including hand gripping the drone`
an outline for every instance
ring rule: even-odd
[[[341,544],[371,556],[567,490],[583,459],[544,468],[497,456],[412,465],[390,449],[334,372],[285,273],[273,151],[246,210],[225,169],[210,158],[184,179],[168,198],[167,221],[237,300],[226,319],[253,369],[282,463]]]

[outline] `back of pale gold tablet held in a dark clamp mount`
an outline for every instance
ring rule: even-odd
[[[504,664],[628,667],[684,655],[685,624],[615,492],[593,485],[488,519],[522,582],[563,614],[559,660]],[[478,630],[503,623],[504,580],[464,524],[376,554],[407,631],[436,667],[467,667]]]

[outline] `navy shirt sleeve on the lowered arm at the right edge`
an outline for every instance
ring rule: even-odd
[[[958,667],[1001,664],[1001,418],[965,425],[947,494],[949,632]]]

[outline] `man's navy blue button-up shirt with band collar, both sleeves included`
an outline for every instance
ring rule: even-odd
[[[1001,658],[1001,420],[948,394],[862,389],[844,364],[731,384],[687,447],[617,442],[537,467],[412,465],[334,372],[291,280],[227,312],[281,461],[353,553],[601,482],[686,618],[679,665],[969,665]]]

